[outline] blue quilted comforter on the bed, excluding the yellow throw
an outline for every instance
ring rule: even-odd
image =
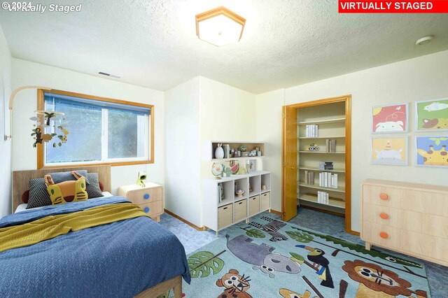
[[[0,227],[125,201],[109,197],[29,209],[2,218]],[[181,242],[146,217],[0,253],[0,297],[133,297],[178,275],[190,283]]]

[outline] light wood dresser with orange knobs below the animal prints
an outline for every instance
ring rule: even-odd
[[[361,187],[366,249],[380,246],[448,266],[448,187],[373,179]]]

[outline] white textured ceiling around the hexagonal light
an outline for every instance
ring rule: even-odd
[[[448,15],[339,15],[336,0],[71,2],[82,11],[0,10],[13,57],[156,90],[200,75],[258,94],[448,49]],[[247,22],[218,48],[197,38],[195,15],[221,5]]]

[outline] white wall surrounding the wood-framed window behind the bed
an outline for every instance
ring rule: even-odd
[[[148,180],[164,184],[164,93],[114,80],[106,80],[75,71],[13,59],[13,88],[24,85],[41,85],[52,89],[123,99],[154,105],[154,164],[113,166],[112,191],[118,186],[135,183],[137,172],[146,170]],[[13,109],[13,171],[36,169],[36,149],[32,147],[32,122],[37,106],[36,90],[22,90],[15,97]],[[88,141],[88,137],[86,138]]]

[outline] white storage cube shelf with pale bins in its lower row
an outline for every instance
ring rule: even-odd
[[[223,199],[220,201],[219,185],[223,185]],[[264,190],[263,185],[265,186]],[[236,190],[244,190],[242,197]],[[251,187],[251,192],[249,192]],[[205,178],[202,185],[202,222],[209,229],[218,231],[235,225],[258,213],[270,211],[271,173],[253,171],[244,175],[232,175],[221,179]],[[264,200],[262,200],[264,198]],[[232,213],[232,220],[230,220]]]

